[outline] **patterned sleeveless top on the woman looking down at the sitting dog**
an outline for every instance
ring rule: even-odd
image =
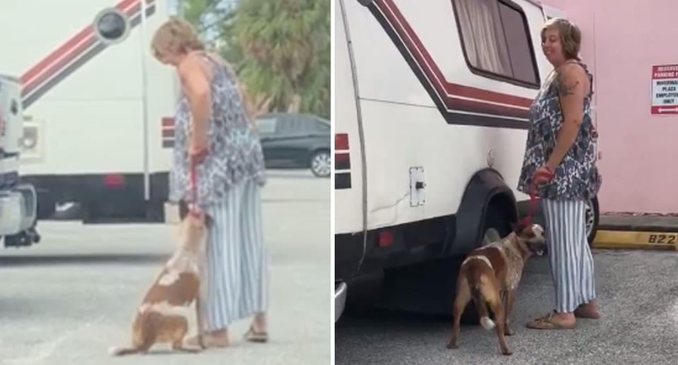
[[[222,203],[229,189],[242,181],[266,184],[261,142],[244,111],[230,68],[201,54],[211,66],[212,110],[208,121],[208,155],[196,166],[196,203]],[[188,154],[191,109],[186,95],[175,113],[174,152],[169,172],[169,201],[193,201]]]

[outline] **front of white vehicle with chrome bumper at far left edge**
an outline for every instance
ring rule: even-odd
[[[0,75],[0,239],[4,246],[30,246],[40,241],[35,231],[35,189],[20,181],[22,133],[20,83]]]

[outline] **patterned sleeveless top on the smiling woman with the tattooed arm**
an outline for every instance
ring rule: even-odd
[[[574,61],[584,68],[590,80],[591,89],[584,97],[584,115],[576,140],[554,171],[549,184],[536,189],[536,195],[560,201],[587,200],[597,195],[602,177],[595,165],[597,158],[597,131],[591,121],[591,96],[593,95],[593,76],[585,64]],[[555,75],[555,72],[552,73]],[[530,193],[532,176],[536,169],[545,164],[556,145],[557,133],[563,122],[554,77],[542,86],[533,104],[530,106],[530,129],[525,145],[525,157],[521,176],[518,179],[518,191]]]

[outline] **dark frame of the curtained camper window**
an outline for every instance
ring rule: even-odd
[[[459,35],[459,44],[461,45],[461,51],[464,55],[464,61],[466,62],[466,66],[468,66],[469,70],[471,73],[477,76],[483,76],[485,78],[491,78],[492,80],[497,80],[497,81],[504,81],[506,83],[511,83],[513,85],[518,85],[518,86],[523,86],[525,88],[530,88],[530,89],[535,89],[539,90],[541,88],[541,74],[539,70],[539,66],[537,65],[537,55],[535,54],[535,47],[534,43],[532,40],[532,34],[530,34],[530,24],[528,23],[528,18],[525,16],[525,12],[523,11],[523,8],[519,6],[518,4],[514,3],[511,0],[494,0],[495,3],[501,3],[506,6],[509,6],[509,8],[513,8],[513,10],[518,11],[518,13],[521,14],[521,18],[523,19],[523,28],[525,29],[525,35],[528,37],[528,47],[530,49],[530,56],[532,59],[532,66],[533,69],[535,70],[535,76],[537,77],[536,83],[529,83],[528,81],[524,80],[519,80],[518,78],[513,78],[509,76],[502,75],[501,73],[496,73],[492,71],[487,71],[482,68],[477,68],[476,66],[473,66],[471,62],[468,59],[468,54],[466,52],[466,45],[464,42],[464,35],[463,32],[461,31],[461,25],[459,21],[459,14],[457,11],[457,5],[456,1],[458,0],[451,0],[452,3],[452,12],[454,13],[454,19],[457,27],[457,34]],[[499,6],[499,5],[497,5]],[[501,20],[501,28],[504,32],[506,32],[506,29],[504,28],[504,20],[501,19],[501,11],[499,12],[499,19]],[[506,36],[504,37],[504,42],[506,42]],[[505,43],[506,44],[506,43]],[[508,44],[506,44],[508,47]],[[509,62],[511,62],[511,54],[509,54]]]

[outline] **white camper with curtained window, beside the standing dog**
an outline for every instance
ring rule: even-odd
[[[460,258],[527,208],[516,185],[528,110],[552,69],[548,14],[533,0],[335,10],[335,321],[372,273],[381,291],[365,293],[380,306],[450,313]]]

